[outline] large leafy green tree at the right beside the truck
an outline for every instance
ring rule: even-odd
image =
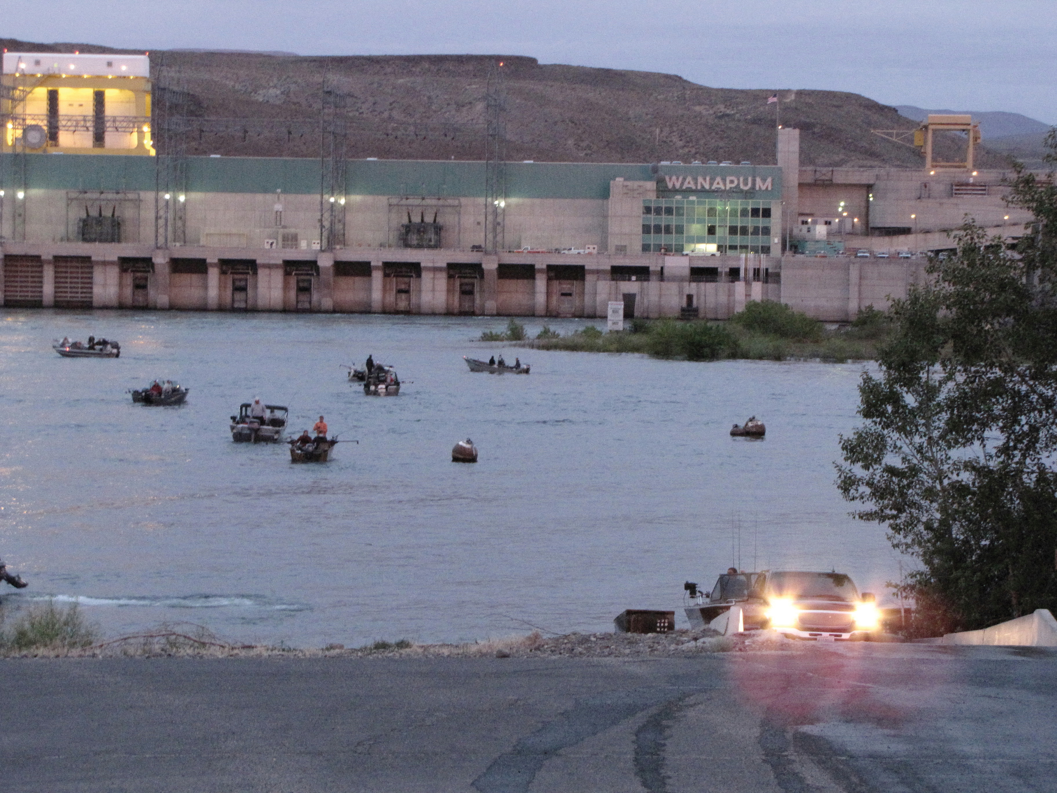
[[[1016,250],[967,222],[931,260],[841,438],[853,514],[922,564],[905,586],[925,635],[1057,610],[1057,186],[1018,169],[1010,188],[1035,217]]]

